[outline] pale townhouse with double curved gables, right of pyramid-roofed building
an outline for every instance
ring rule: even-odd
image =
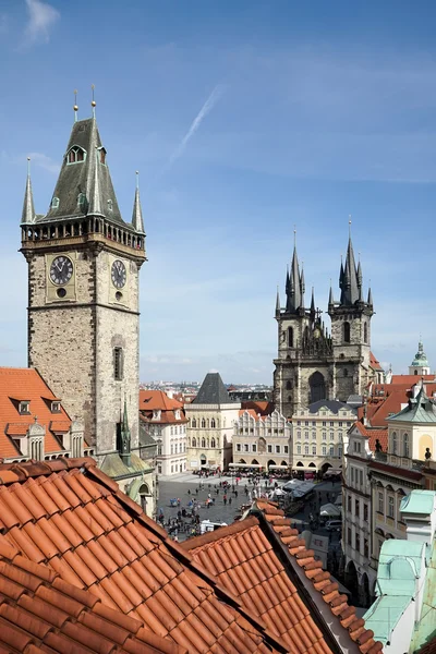
[[[271,472],[292,467],[291,423],[279,411],[261,415],[241,409],[234,424],[232,467],[244,465]]]

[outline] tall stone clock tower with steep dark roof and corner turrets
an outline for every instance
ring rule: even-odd
[[[95,116],[75,120],[45,215],[35,213],[27,175],[21,232],[28,264],[28,365],[71,417],[84,422],[100,463],[121,452],[125,398],[129,463],[130,448],[138,448],[145,233],[137,183],[132,220],[121,216]]]

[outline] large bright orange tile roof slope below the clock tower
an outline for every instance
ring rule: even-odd
[[[93,459],[0,464],[0,533],[26,561],[58,573],[56,583],[89,592],[105,610],[138,620],[190,654],[287,651]],[[40,621],[47,623],[45,614],[26,616],[22,627]]]

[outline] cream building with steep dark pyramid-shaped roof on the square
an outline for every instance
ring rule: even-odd
[[[185,404],[187,470],[227,470],[241,403],[231,400],[219,373],[207,373],[196,398]]]

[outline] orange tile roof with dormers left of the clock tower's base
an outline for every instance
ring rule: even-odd
[[[29,415],[20,414],[17,408],[20,399],[29,400]],[[51,413],[50,402],[57,399],[36,370],[0,367],[0,458],[20,457],[10,436],[24,435],[34,422],[35,415],[38,416],[38,423],[46,427],[45,453],[50,455],[63,450],[50,431],[50,423],[56,416],[56,421],[69,424],[66,429],[62,429],[68,432],[71,420],[62,405],[60,413]],[[13,425],[11,432],[9,428],[7,429],[8,425]],[[22,429],[25,431],[22,432]]]

